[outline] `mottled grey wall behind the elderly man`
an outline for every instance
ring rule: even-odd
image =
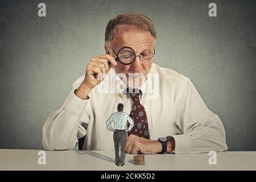
[[[217,17],[208,16],[210,2]],[[256,1],[1,0],[0,7],[0,148],[43,148],[48,115],[90,58],[105,53],[108,20],[137,11],[155,22],[155,63],[191,78],[224,123],[229,151],[256,150]]]

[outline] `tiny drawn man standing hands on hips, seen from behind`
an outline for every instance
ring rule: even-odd
[[[130,123],[129,129],[127,129],[127,121]],[[111,123],[114,122],[114,129]],[[123,104],[119,103],[117,105],[117,112],[112,114],[110,118],[106,121],[106,126],[109,131],[114,132],[114,146],[115,146],[115,165],[123,166],[125,165],[125,144],[127,140],[127,131],[130,131],[134,122],[133,119],[129,117],[127,113],[123,112]],[[119,156],[119,146],[121,147],[121,154]]]

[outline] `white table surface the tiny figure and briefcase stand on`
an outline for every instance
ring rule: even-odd
[[[0,170],[256,170],[256,152],[217,152],[217,164],[205,154],[145,155],[145,166],[115,166],[114,151],[46,151],[46,165],[38,164],[40,150],[0,149]]]

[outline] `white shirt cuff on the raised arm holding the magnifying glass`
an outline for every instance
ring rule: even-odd
[[[88,99],[82,100],[81,98],[76,96],[75,89],[72,89],[68,97],[64,101],[63,106],[69,111],[69,113],[79,115],[81,111],[84,110],[84,107],[87,105],[88,102],[89,96]]]

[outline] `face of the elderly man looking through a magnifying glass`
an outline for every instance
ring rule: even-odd
[[[154,45],[155,39],[150,32],[139,31],[136,30],[136,28],[129,31],[122,31],[122,28],[120,28],[112,42],[110,42],[111,49],[109,49],[109,54],[115,58],[117,56],[114,52],[117,53],[121,47],[128,46],[134,49],[135,55],[137,56],[145,51],[154,52]],[[127,79],[123,81],[127,86],[130,88],[138,88],[147,78],[147,73],[150,72],[152,62],[153,58],[141,60],[139,56],[137,56],[134,62],[129,65],[124,65],[117,61],[117,65],[114,69],[117,75],[118,73],[124,73],[126,75]]]

